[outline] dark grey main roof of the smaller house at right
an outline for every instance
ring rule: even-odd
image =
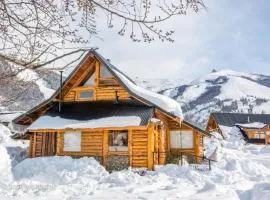
[[[246,114],[246,113],[212,113],[218,125],[235,126],[236,124],[248,124],[261,122],[269,124],[270,114]]]

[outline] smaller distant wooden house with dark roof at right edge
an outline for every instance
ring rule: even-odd
[[[226,127],[238,127],[250,143],[270,143],[270,114],[212,113],[206,131],[223,137]]]

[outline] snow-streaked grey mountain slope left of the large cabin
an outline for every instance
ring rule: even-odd
[[[0,60],[0,111],[25,111],[49,98],[59,75],[49,70],[23,70]]]

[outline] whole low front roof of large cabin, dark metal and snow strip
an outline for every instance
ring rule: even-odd
[[[65,128],[104,128],[145,126],[154,115],[154,109],[133,102],[64,103],[59,113],[57,103],[34,121],[28,130]]]

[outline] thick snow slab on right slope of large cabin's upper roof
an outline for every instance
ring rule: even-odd
[[[165,111],[172,113],[173,115],[183,119],[182,109],[179,103],[167,96],[151,92],[144,88],[141,88],[130,80],[128,80],[123,74],[113,69],[113,72],[121,79],[121,81],[134,93],[138,96],[150,101],[151,103],[159,106]]]

